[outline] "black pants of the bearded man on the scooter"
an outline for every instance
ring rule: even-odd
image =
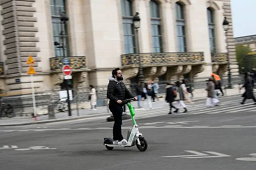
[[[122,105],[109,105],[109,110],[112,112],[114,117],[114,126],[113,126],[113,140],[114,141],[122,141],[124,137],[122,136],[122,114],[123,107]]]

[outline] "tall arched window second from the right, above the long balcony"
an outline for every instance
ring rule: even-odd
[[[180,3],[176,3],[176,31],[178,40],[178,51],[186,52],[186,33],[185,33],[185,18],[184,18],[184,6]]]

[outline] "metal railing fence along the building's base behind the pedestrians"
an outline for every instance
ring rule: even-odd
[[[195,78],[190,79],[190,84],[192,89],[204,89],[206,88],[206,80],[209,77],[204,78]],[[222,76],[222,86],[226,86],[228,84],[228,77]],[[169,81],[160,81],[158,82],[158,93],[164,94],[166,92],[166,83]],[[232,76],[232,84],[238,85],[243,82],[243,76]],[[172,82],[174,83],[174,82]],[[96,95],[97,95],[97,106],[105,106],[106,105],[106,93],[107,93],[107,86],[95,86]],[[72,99],[71,104],[89,102],[89,92],[90,87],[86,87],[83,89],[70,89],[72,91]],[[130,84],[130,91],[132,94],[136,95],[136,84]],[[48,109],[47,106],[50,102],[50,99],[59,99],[59,91],[58,90],[45,90],[42,92],[36,92],[35,99],[36,99],[36,107],[42,109]],[[22,96],[6,96],[1,97],[1,102],[6,104],[11,104],[14,107],[14,112],[17,114],[32,114],[33,113],[33,104],[32,104],[32,94],[26,94]]]

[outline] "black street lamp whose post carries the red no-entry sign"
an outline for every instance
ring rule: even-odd
[[[60,21],[63,25],[61,25],[61,30],[60,30],[60,34],[59,34],[59,41],[60,43],[58,43],[57,41],[54,42],[54,45],[58,46],[57,48],[62,48],[62,52],[63,52],[63,59],[62,59],[62,63],[63,65],[70,65],[70,60],[68,59],[68,57],[66,57],[66,53],[65,53],[65,25],[68,23],[68,15],[66,14],[65,11],[62,11],[62,14],[60,16]],[[64,27],[64,29],[63,29]],[[70,109],[70,100],[69,100],[69,87],[68,87],[68,79],[64,79],[64,82],[66,84],[66,91],[67,91],[67,95],[68,95],[68,99],[67,99],[67,102],[68,102],[68,116],[71,116],[71,109]]]

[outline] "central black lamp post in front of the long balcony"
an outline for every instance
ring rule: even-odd
[[[141,57],[140,57],[140,44],[139,44],[139,33],[138,33],[138,29],[140,28],[140,16],[139,13],[136,12],[136,14],[133,17],[133,24],[134,24],[134,28],[136,31],[136,53],[139,55],[139,75],[138,75],[138,79],[140,82],[140,86],[144,86],[144,75],[143,75],[143,69],[142,69],[142,61],[141,61]]]

